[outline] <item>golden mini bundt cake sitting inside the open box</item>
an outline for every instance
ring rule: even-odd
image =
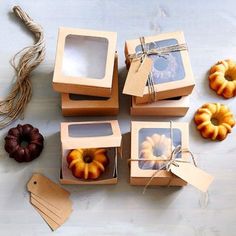
[[[106,149],[74,149],[67,156],[68,168],[76,178],[97,179],[108,164]]]

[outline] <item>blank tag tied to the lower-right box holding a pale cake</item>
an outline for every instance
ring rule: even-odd
[[[173,174],[185,180],[189,184],[206,192],[214,177],[205,171],[195,167],[192,163],[178,162],[178,166],[171,165],[170,170]]]

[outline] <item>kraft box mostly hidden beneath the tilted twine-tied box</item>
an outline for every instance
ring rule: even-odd
[[[168,98],[147,104],[136,104],[132,97],[130,114],[132,116],[185,116],[189,109],[189,96]]]

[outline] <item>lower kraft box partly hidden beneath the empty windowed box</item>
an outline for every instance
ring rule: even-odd
[[[118,55],[116,54],[114,62],[111,97],[62,93],[61,109],[64,116],[117,115],[119,112]]]

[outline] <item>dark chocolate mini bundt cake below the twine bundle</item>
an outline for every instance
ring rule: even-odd
[[[40,155],[44,138],[30,124],[11,128],[5,137],[5,150],[18,162],[29,162]]]

